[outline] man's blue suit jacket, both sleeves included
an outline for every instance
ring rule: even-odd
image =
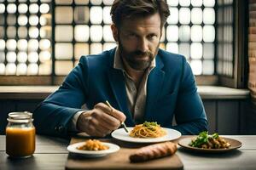
[[[102,54],[81,57],[61,87],[34,111],[38,133],[67,136],[73,115],[84,103],[89,109],[108,99],[125,113],[127,126],[134,126],[128,110],[123,72],[113,68],[115,48]],[[172,126],[175,116],[177,126]],[[148,76],[144,121],[158,122],[183,134],[207,130],[207,117],[195,77],[182,55],[159,50],[156,67]]]

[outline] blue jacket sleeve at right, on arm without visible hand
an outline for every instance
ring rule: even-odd
[[[195,77],[189,63],[183,58],[183,73],[177,95],[175,111],[177,129],[182,134],[198,134],[207,131],[207,116],[201,97],[197,93]]]

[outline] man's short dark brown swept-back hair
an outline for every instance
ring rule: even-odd
[[[110,14],[113,24],[118,28],[125,19],[160,14],[160,26],[165,25],[170,11],[166,0],[114,0]]]

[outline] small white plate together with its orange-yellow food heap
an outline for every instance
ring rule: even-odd
[[[70,153],[86,157],[107,156],[108,154],[117,152],[119,149],[120,148],[117,144],[101,142],[96,139],[89,139],[84,142],[70,144],[67,146],[67,150]]]

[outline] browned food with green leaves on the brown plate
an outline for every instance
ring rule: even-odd
[[[202,149],[229,149],[231,144],[218,136],[218,133],[210,135],[208,132],[201,132],[191,140],[189,146]]]

